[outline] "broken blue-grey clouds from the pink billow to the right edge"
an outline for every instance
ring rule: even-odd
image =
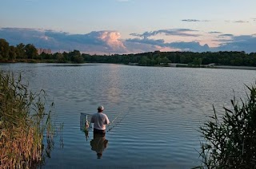
[[[176,32],[176,30],[178,30]],[[161,48],[170,48],[170,49],[179,49],[182,51],[192,51],[192,52],[206,52],[206,51],[246,51],[246,53],[255,52],[256,46],[256,35],[241,35],[235,36],[231,33],[221,33],[218,31],[210,32],[210,34],[217,34],[215,39],[212,41],[218,42],[217,47],[209,47],[209,45],[202,45],[199,41],[174,41],[170,43],[166,43],[162,39],[151,39],[150,36],[154,36],[158,33],[166,33],[166,35],[180,35],[185,36],[184,32],[192,31],[191,29],[165,29],[165,31],[158,30],[153,32],[146,32],[142,34],[134,34],[137,37],[143,38],[132,38],[127,39],[131,43],[136,43],[138,45],[146,44],[146,45],[154,45]],[[190,36],[190,34],[188,34]]]

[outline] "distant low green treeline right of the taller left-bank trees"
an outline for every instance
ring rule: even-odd
[[[188,65],[236,65],[256,66],[256,53],[245,52],[149,52],[111,56],[84,55],[85,61],[102,63],[138,63],[138,65],[168,65],[169,63]]]

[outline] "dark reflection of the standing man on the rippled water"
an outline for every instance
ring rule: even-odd
[[[94,139],[90,141],[92,151],[97,152],[98,159],[102,158],[102,152],[107,147],[108,140],[105,139],[104,134],[94,133]]]

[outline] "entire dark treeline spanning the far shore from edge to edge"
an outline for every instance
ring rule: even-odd
[[[236,65],[256,66],[256,53],[245,52],[148,52],[137,54],[90,55],[78,50],[66,53],[37,53],[34,45],[9,45],[0,39],[0,61],[38,61],[57,63],[114,63],[137,65],[168,65],[169,63],[188,65]]]

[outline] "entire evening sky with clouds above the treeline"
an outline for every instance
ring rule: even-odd
[[[255,0],[0,0],[0,38],[53,52],[256,52]]]

